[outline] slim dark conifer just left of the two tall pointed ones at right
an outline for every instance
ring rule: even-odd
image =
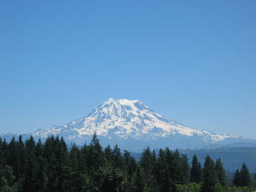
[[[198,161],[196,154],[193,156],[190,181],[199,184],[201,182],[201,164]]]

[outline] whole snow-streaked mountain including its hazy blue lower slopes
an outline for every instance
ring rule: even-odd
[[[253,142],[244,137],[227,134],[213,134],[186,127],[152,111],[138,100],[110,98],[99,105],[85,118],[71,121],[63,126],[38,130],[22,136],[32,135],[35,140],[44,141],[50,135],[64,137],[68,143],[82,145],[91,141],[96,133],[103,146],[118,144],[129,151],[151,148],[201,148],[211,144],[232,144]],[[12,134],[2,134],[10,139]]]

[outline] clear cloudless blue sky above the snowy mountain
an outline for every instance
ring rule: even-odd
[[[256,139],[256,1],[0,2],[0,132],[139,99],[193,128]]]

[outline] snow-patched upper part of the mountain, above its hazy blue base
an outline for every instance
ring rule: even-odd
[[[152,141],[171,135],[197,136],[204,141],[223,141],[228,137],[222,134],[211,134],[208,131],[191,129],[175,123],[161,114],[151,111],[148,106],[138,100],[108,99],[91,111],[85,118],[71,121],[63,126],[55,126],[46,131],[36,131],[34,135],[48,137],[49,134],[65,134],[68,139],[77,139],[82,136],[91,136],[96,132],[99,136],[108,138],[118,137],[122,139],[134,139]]]

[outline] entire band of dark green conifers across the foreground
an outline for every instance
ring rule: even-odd
[[[254,191],[254,182],[246,164],[228,181],[221,159],[207,156],[201,165],[194,154],[190,165],[168,147],[158,154],[148,147],[136,162],[117,145],[101,147],[96,134],[71,148],[54,136],[44,143],[0,138],[0,191]]]

